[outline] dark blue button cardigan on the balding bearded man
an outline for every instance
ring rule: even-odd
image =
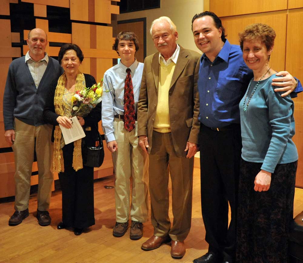
[[[25,62],[25,56],[12,61],[3,96],[4,129],[14,129],[14,117],[29,125],[45,124],[42,112],[50,84],[58,79],[63,69],[58,61],[48,57],[48,64],[38,89]]]

